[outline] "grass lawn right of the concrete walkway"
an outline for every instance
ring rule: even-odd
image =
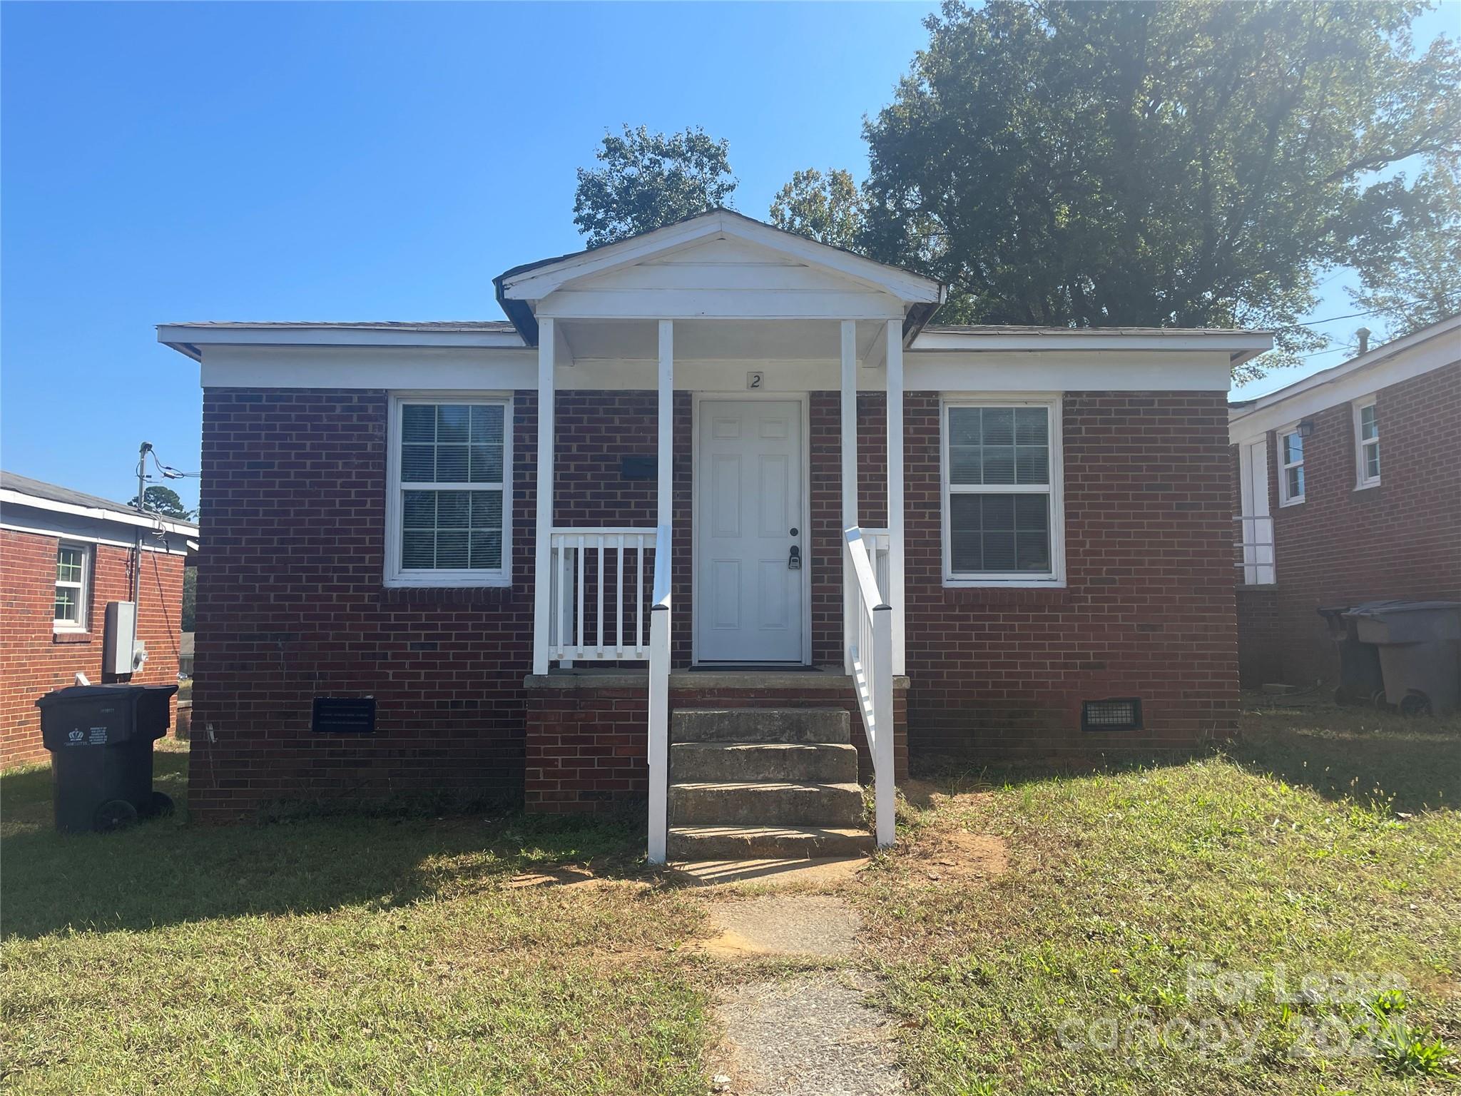
[[[1188,764],[932,786],[909,824],[1001,834],[1011,869],[893,867],[861,897],[919,1092],[1455,1090],[1461,720],[1249,713]],[[1398,975],[1403,1007],[1277,1000],[1346,973]],[[1429,1073],[1403,1059],[1427,1045]]]

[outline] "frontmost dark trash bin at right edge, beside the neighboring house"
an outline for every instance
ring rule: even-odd
[[[1405,715],[1441,715],[1461,706],[1461,602],[1389,601],[1357,605],[1360,643],[1379,652],[1385,700]]]

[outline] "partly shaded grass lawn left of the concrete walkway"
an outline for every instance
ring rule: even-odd
[[[181,801],[186,756],[159,756]],[[48,830],[4,776],[6,1093],[701,1093],[700,922],[624,826]],[[522,872],[602,861],[576,886]]]

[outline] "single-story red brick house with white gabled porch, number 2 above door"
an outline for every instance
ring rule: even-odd
[[[1233,729],[1267,335],[939,327],[729,210],[495,285],[507,323],[159,327],[205,393],[194,817],[647,799],[652,859],[793,855],[865,845],[875,773],[891,839],[910,756]]]

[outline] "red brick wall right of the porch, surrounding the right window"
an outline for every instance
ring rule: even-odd
[[[1064,399],[1065,589],[945,589],[939,402],[906,395],[909,750],[1039,756],[1233,732],[1232,476],[1221,392]],[[1141,697],[1144,731],[1083,734]]]

